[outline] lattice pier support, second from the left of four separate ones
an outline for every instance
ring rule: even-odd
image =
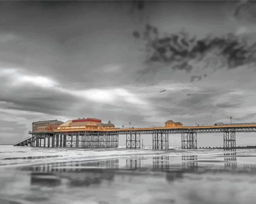
[[[153,149],[169,149],[168,132],[153,132]]]

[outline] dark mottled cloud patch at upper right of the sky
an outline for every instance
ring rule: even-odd
[[[196,39],[183,31],[160,37],[157,27],[147,24],[143,34],[148,52],[146,62],[168,64],[174,70],[190,72],[191,61],[206,62],[209,53],[224,58],[228,69],[256,62],[256,44],[248,45],[245,39],[232,33]]]

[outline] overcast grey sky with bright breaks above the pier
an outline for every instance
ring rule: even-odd
[[[50,119],[256,122],[255,14],[238,1],[1,1],[0,143]]]

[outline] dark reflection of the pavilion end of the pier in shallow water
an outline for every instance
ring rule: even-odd
[[[61,178],[69,180],[69,186],[89,186],[100,184],[102,180],[111,181],[112,168],[118,168],[118,159],[98,161],[70,161],[25,167],[31,171],[31,184],[60,185]]]

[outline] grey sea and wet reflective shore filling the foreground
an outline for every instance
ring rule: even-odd
[[[0,203],[255,203],[256,150],[0,146]]]

